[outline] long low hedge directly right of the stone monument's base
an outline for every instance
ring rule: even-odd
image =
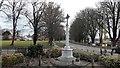
[[[85,61],[92,61],[92,59],[94,59],[94,61],[98,61],[100,54],[95,52],[87,52],[79,49],[74,49],[73,56],[76,58],[80,57],[81,60]]]

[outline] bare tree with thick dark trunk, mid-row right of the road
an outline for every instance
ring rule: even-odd
[[[85,27],[87,29],[88,35],[91,37],[92,43],[95,41],[95,37],[98,31],[98,15],[96,13],[96,9],[86,8],[81,12],[82,19],[86,24]]]

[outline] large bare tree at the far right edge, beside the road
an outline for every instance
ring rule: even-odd
[[[112,46],[115,46],[120,38],[120,2],[108,1],[100,4],[100,10],[103,12],[102,16],[104,17],[103,28],[109,34]],[[99,25],[102,26],[102,24]]]

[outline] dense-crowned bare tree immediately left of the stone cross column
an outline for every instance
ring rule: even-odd
[[[43,21],[47,27],[46,31],[49,43],[52,45],[55,31],[60,27],[60,23],[64,21],[63,11],[60,9],[60,5],[57,5],[54,2],[49,2],[43,15]]]

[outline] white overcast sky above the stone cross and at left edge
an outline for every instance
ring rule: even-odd
[[[52,1],[61,5],[61,8],[64,11],[64,15],[69,14],[70,15],[69,23],[72,23],[77,12],[87,7],[96,8],[97,3],[103,0],[46,0],[46,1],[47,2]],[[12,24],[8,23],[6,24],[3,22],[4,21],[0,16],[0,27],[2,27],[2,29],[6,27],[12,27]]]

